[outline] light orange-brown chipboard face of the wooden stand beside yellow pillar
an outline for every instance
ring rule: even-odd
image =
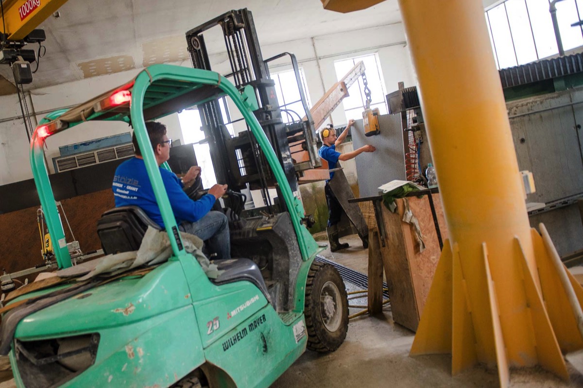
[[[436,204],[434,197],[434,206],[441,209],[441,202]],[[437,268],[437,262],[441,255],[441,248],[437,239],[437,232],[435,223],[433,222],[433,215],[429,204],[429,197],[424,195],[422,198],[409,197],[409,209],[419,220],[419,228],[425,249],[420,252],[420,246],[415,240],[415,229],[412,225],[401,222],[403,227],[403,236],[405,237],[406,257],[409,261],[409,268],[411,270],[411,278],[413,280],[413,289],[415,290],[415,298],[417,300],[417,309],[419,316],[423,314],[423,307],[429,294],[433,275]],[[396,201],[399,216],[403,217],[405,212],[405,200],[399,199]],[[441,211],[441,213],[443,213]],[[439,213],[438,213],[439,214]],[[438,217],[439,220],[439,217]],[[447,229],[440,225],[440,230],[447,235]],[[442,232],[443,233],[443,232]]]

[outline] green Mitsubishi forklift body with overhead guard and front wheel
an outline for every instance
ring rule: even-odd
[[[224,209],[237,213],[231,251],[240,258],[217,261],[219,275],[210,277],[185,249],[145,122],[225,96],[271,168],[284,210],[244,217],[240,205]],[[267,387],[306,348],[326,353],[342,344],[348,328],[345,285],[333,266],[315,261],[323,248],[303,224],[303,205],[252,113],[257,108],[251,86],[237,90],[216,72],[153,65],[114,90],[41,120],[30,162],[59,268],[74,273],[77,266],[55,206],[44,142],[96,120],[133,127],[171,254],[155,265],[86,280],[55,276],[9,296],[0,353],[9,355],[17,387]],[[112,209],[99,223],[108,225],[99,236],[114,255],[95,259],[93,268],[118,252],[138,250],[147,226],[155,226],[132,207]]]

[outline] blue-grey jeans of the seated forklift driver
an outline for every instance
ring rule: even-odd
[[[216,254],[209,259],[230,259],[231,241],[229,236],[229,220],[222,212],[210,211],[196,222],[182,222],[178,226],[182,232],[194,234],[205,241],[205,254]]]

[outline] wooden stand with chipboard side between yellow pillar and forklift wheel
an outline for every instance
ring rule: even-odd
[[[393,319],[416,331],[427,300],[431,281],[441,255],[447,225],[437,188],[420,190],[398,198],[392,213],[382,204],[382,196],[354,198],[350,202],[373,202],[377,227],[369,232],[368,308],[371,314],[382,309],[382,275],[387,278]],[[415,238],[415,227],[403,221],[410,212],[419,223],[424,243]]]

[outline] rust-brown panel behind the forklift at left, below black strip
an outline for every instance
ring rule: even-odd
[[[90,252],[100,249],[97,220],[104,211],[115,206],[111,190],[62,200],[61,204],[81,250]],[[0,269],[5,268],[6,272],[11,273],[43,264],[37,209],[32,207],[0,215]],[[66,240],[73,241],[63,215],[61,220]]]

